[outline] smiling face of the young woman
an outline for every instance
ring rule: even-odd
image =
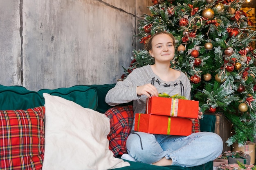
[[[173,39],[168,34],[159,34],[152,39],[152,50],[149,50],[155,62],[170,62],[175,54]]]

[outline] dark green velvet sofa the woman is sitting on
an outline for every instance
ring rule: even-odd
[[[85,108],[94,109],[100,113],[105,113],[110,105],[106,104],[105,96],[109,89],[115,84],[105,85],[76,85],[68,88],[40,89],[38,92],[29,91],[22,86],[0,85],[0,110],[29,109],[43,106],[45,104],[43,93],[60,96],[67,100],[72,100]],[[128,104],[127,104],[128,105]],[[200,120],[201,131],[214,131],[215,116],[205,115]],[[129,167],[117,168],[115,170],[212,170],[213,161],[201,166],[183,168],[180,166],[153,166],[145,163],[128,161]],[[4,168],[4,167],[2,167]]]

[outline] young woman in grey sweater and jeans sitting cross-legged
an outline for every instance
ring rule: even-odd
[[[153,35],[145,45],[155,64],[133,70],[106,95],[109,105],[133,101],[134,113],[145,113],[146,98],[167,93],[190,99],[191,85],[180,70],[170,68],[174,57],[175,38],[166,32]],[[201,118],[202,112],[198,113]],[[161,124],[159,124],[161,126]],[[134,122],[132,130],[134,130]],[[159,166],[198,166],[216,159],[223,149],[216,133],[199,132],[189,136],[157,135],[132,131],[126,142],[128,154],[138,162]]]

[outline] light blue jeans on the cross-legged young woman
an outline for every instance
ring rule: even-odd
[[[198,166],[220,156],[223,142],[211,132],[192,133],[189,136],[131,133],[126,141],[128,154],[138,162],[155,163],[165,157],[172,165]]]

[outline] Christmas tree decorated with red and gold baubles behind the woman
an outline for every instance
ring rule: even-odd
[[[240,146],[256,135],[256,50],[254,23],[243,11],[244,0],[152,0],[151,15],[138,25],[139,41],[159,31],[172,33],[177,51],[171,68],[185,72],[191,97],[205,112],[221,112],[232,124],[226,143]],[[248,11],[247,11],[248,12]],[[153,64],[146,50],[134,50],[130,67]]]

